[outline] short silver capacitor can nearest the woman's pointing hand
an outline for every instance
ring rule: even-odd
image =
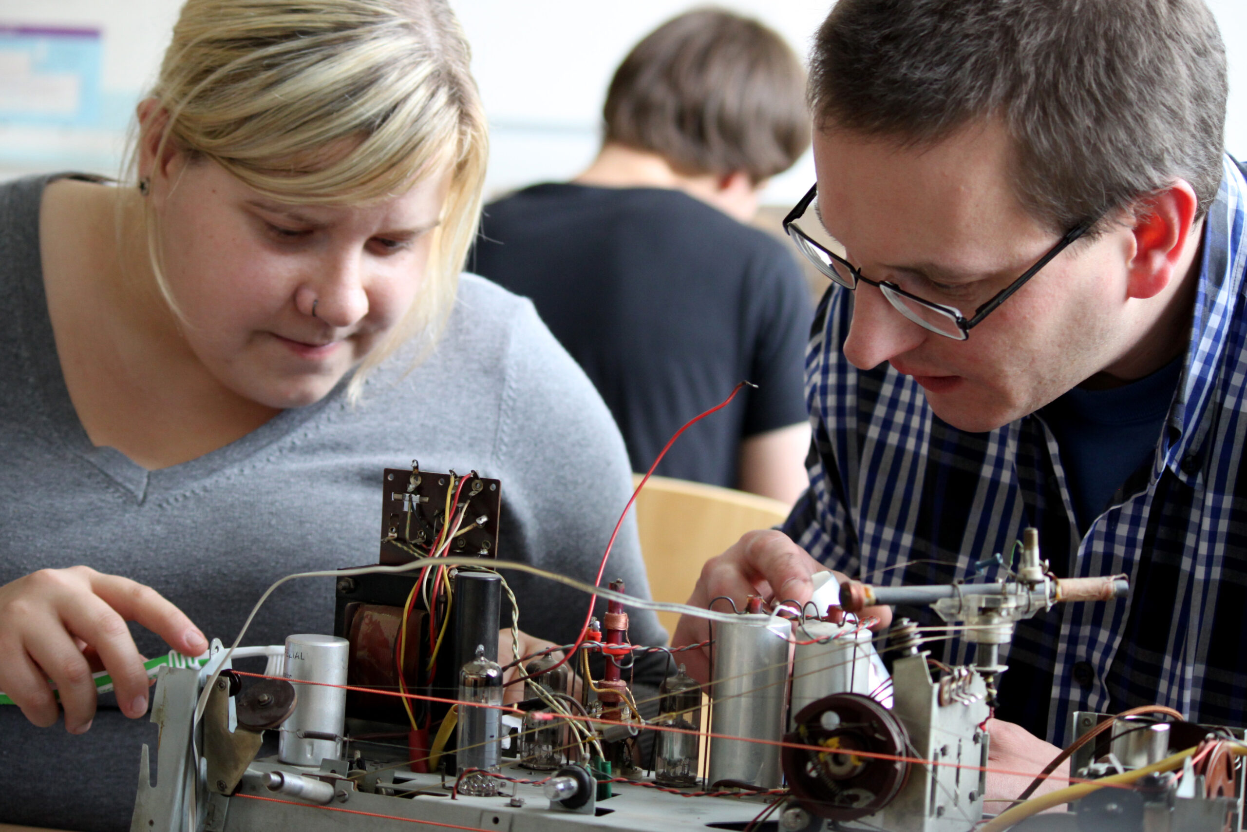
[[[347,716],[347,691],[329,685],[347,684],[350,642],[315,634],[286,639],[283,675],[294,682],[294,712],[282,723],[278,760],[294,766],[320,766],[324,758],[342,757],[342,730]],[[299,685],[299,681],[318,682]]]

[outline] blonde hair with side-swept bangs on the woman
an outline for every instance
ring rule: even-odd
[[[469,61],[445,0],[187,0],[151,90],[167,114],[161,146],[282,202],[368,202],[449,171],[415,302],[357,369],[352,399],[405,341],[431,346],[454,303],[489,152]]]

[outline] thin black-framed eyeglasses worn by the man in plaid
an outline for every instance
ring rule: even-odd
[[[1047,266],[1049,261],[1065,251],[1065,248],[1075,239],[1085,235],[1096,222],[1095,220],[1089,220],[1071,228],[1064,237],[1060,238],[1060,241],[1057,241],[1055,246],[1052,246],[1052,248],[1049,249],[1046,254],[1039,258],[1038,263],[1028,268],[1021,277],[1000,289],[1000,292],[998,292],[990,301],[975,309],[974,317],[966,318],[956,307],[935,303],[934,301],[924,301],[923,298],[904,291],[895,283],[889,283],[888,281],[872,281],[870,278],[864,277],[862,272],[859,272],[850,262],[835,252],[828,251],[817,241],[811,239],[804,231],[793,223],[796,223],[797,220],[806,213],[806,208],[808,208],[809,203],[814,201],[814,196],[817,193],[818,186],[816,185],[809,188],[809,193],[803,196],[801,202],[798,202],[793,210],[788,212],[788,216],[783,218],[783,230],[789,237],[792,237],[792,241],[797,244],[801,253],[804,254],[819,272],[826,274],[837,284],[850,291],[855,289],[859,282],[874,286],[883,292],[883,297],[888,298],[888,302],[892,303],[892,306],[895,307],[900,314],[905,316],[924,329],[930,329],[936,334],[946,338],[954,338],[956,341],[965,341],[969,338],[970,329],[983,323],[983,319],[991,314],[996,307],[1008,301],[1009,296],[1020,289],[1026,281],[1035,277],[1039,269]]]

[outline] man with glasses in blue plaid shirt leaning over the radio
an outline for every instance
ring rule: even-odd
[[[835,284],[807,353],[811,485],[692,602],[801,601],[822,568],[990,581],[1036,526],[1059,576],[1125,573],[1131,596],[1016,627],[994,767],[1040,770],[1075,710],[1243,725],[1247,660],[1215,636],[1247,630],[1247,182],[1211,12],[839,0],[811,64],[817,185],[784,221]],[[703,635],[686,617],[675,641]]]

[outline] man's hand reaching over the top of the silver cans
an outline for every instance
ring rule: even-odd
[[[718,596],[731,597],[737,609],[743,609],[748,595],[761,595],[777,601],[791,599],[798,604],[809,600],[814,590],[811,576],[826,571],[822,564],[809,556],[804,549],[792,541],[782,531],[773,529],[749,531],[736,545],[702,566],[701,578],[688,599],[691,606],[708,607]],[[844,575],[833,573],[840,583]],[[727,611],[727,604],[715,606]],[[875,627],[885,627],[892,622],[892,610],[885,606],[862,611],[862,617],[877,617]],[[680,617],[672,637],[673,646],[697,644],[710,639],[710,622],[690,615]],[[688,650],[680,654],[685,671],[700,682],[710,681],[710,654],[702,650]]]

